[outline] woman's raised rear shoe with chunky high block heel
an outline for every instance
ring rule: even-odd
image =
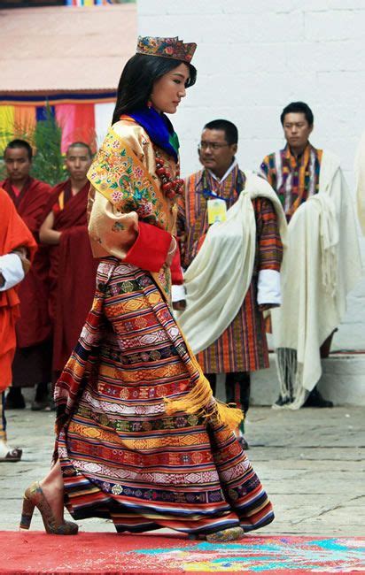
[[[75,535],[79,531],[79,525],[72,521],[59,523],[56,520],[38,481],[27,487],[25,491],[19,529],[29,529],[35,507],[41,512],[43,525],[47,533],[52,533],[53,535]]]

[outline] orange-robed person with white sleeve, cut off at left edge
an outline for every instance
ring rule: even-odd
[[[9,462],[19,461],[21,449],[11,449],[6,441],[4,391],[12,383],[12,359],[17,345],[18,284],[35,255],[36,242],[2,188],[0,214],[0,462]]]

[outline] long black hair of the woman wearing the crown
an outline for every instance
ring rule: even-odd
[[[153,83],[181,64],[189,66],[190,77],[185,88],[190,88],[197,79],[197,70],[192,64],[161,56],[146,56],[144,54],[132,56],[124,66],[120,76],[113,124],[120,119],[121,114],[143,108],[151,96]]]

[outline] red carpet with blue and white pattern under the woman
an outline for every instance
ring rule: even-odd
[[[246,536],[207,543],[175,536],[0,532],[0,573],[365,573],[365,538]],[[361,548],[362,546],[362,548]]]

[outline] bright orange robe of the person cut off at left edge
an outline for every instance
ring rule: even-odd
[[[19,218],[12,200],[2,188],[0,214],[0,256],[25,247],[27,257],[32,260],[36,249],[33,235]],[[0,392],[12,383],[12,359],[16,349],[15,322],[19,318],[19,307],[17,286],[0,292]]]

